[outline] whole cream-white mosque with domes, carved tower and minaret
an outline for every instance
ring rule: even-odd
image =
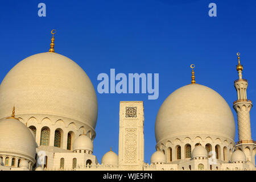
[[[233,103],[237,143],[229,105],[213,89],[196,84],[191,65],[191,84],[170,94],[158,111],[151,163],[144,162],[142,101],[120,102],[118,155],[110,150],[99,163],[93,155],[96,92],[79,65],[55,53],[54,34],[49,52],[20,61],[0,85],[0,171],[256,170],[253,105],[239,53]]]

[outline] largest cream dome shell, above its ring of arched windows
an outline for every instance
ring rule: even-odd
[[[0,101],[0,118],[15,105],[16,115],[55,115],[96,127],[92,82],[79,65],[58,53],[38,53],[16,64],[2,81]]]

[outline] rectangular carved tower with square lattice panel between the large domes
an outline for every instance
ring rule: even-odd
[[[144,109],[142,101],[121,101],[119,111],[119,168],[142,170]]]

